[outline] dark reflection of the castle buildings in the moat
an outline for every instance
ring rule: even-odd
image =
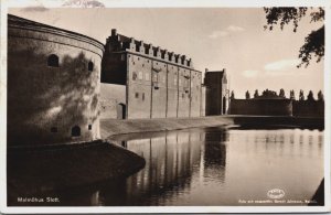
[[[145,169],[127,180],[127,201],[134,200],[132,202],[138,205],[146,205],[141,201],[161,193],[164,196],[163,201],[167,201],[168,195],[175,195],[189,189],[192,185],[193,174],[201,178],[217,174],[217,178],[221,178],[218,180],[224,181],[226,163],[224,141],[228,138],[226,132],[224,130],[220,135],[220,130],[206,133],[192,130],[167,132],[164,136],[150,139],[147,135],[147,139],[128,140],[127,148],[143,157],[147,163]]]

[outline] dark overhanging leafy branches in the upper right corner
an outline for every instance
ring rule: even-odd
[[[285,25],[290,22],[293,23],[293,32],[297,32],[299,21],[307,15],[310,11],[310,22],[323,22],[324,9],[323,8],[264,8],[267,19],[265,30],[273,30],[274,25],[280,24],[282,30]],[[305,39],[303,45],[299,50],[299,58],[301,63],[297,66],[305,65],[307,67],[312,58],[312,55],[317,57],[317,62],[320,62],[324,56],[324,24],[316,31],[311,31]]]

